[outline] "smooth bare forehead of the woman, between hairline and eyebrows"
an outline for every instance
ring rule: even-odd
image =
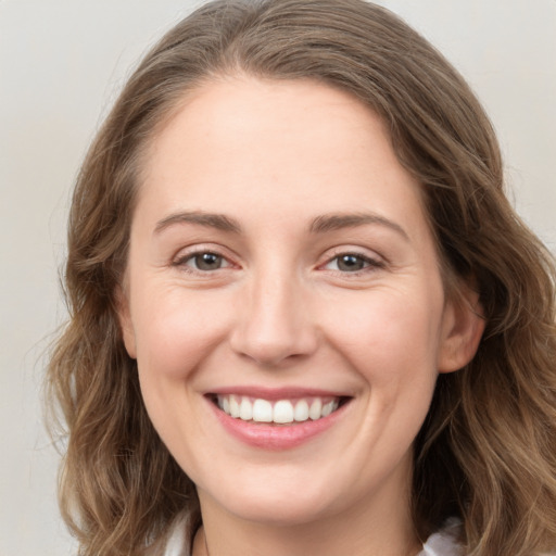
[[[159,213],[210,204],[211,212],[266,211],[278,219],[292,210],[314,218],[364,208],[424,219],[419,187],[382,119],[348,92],[311,80],[241,76],[203,85],[156,134],[144,170],[139,207]]]

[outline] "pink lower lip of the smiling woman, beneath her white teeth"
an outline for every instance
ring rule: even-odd
[[[332,427],[343,415],[348,403],[327,417],[292,425],[268,425],[235,419],[207,401],[223,427],[235,438],[250,446],[264,450],[289,450],[296,447]]]

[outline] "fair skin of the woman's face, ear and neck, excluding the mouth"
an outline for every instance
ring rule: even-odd
[[[206,252],[222,258],[199,269]],[[312,81],[188,93],[146,161],[121,324],[149,415],[198,486],[195,556],[416,554],[412,444],[438,372],[482,332],[464,295],[446,299],[419,186],[369,109]],[[350,402],[269,451],[231,437],[204,395],[238,386]]]

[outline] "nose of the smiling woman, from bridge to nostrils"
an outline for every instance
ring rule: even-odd
[[[318,345],[307,292],[291,275],[261,276],[247,286],[232,350],[258,365],[275,367],[307,357]]]

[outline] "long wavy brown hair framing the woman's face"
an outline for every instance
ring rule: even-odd
[[[477,356],[441,375],[415,442],[413,515],[425,539],[463,520],[472,556],[556,547],[556,326],[552,255],[504,195],[498,146],[459,74],[395,15],[362,0],[211,2],[144,58],[90,147],[75,187],[65,292],[70,321],[48,383],[67,451],[61,507],[84,556],[140,555],[194,485],[154,431],[124,349],[117,287],[142,162],[187,91],[238,72],[314,79],[386,122],[422,187],[448,294],[477,289]]]

